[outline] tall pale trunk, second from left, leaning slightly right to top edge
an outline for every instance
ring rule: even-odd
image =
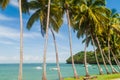
[[[49,27],[49,16],[50,16],[50,2],[51,2],[51,0],[48,0],[47,25],[46,25],[45,44],[44,44],[42,80],[47,80],[47,77],[46,77],[46,53],[47,53],[47,44],[48,44],[48,29],[49,29],[48,27]]]

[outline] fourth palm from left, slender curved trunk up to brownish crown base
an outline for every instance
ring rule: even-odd
[[[74,58],[73,58],[73,52],[72,52],[72,36],[71,36],[71,30],[70,30],[70,27],[71,27],[70,8],[72,8],[71,4],[74,4],[74,2],[75,2],[75,0],[72,0],[72,1],[67,1],[67,0],[65,1],[65,0],[63,0],[63,7],[64,7],[63,10],[65,10],[66,16],[67,16],[68,34],[69,34],[69,45],[70,45],[70,56],[71,56],[71,59],[72,59],[72,68],[73,68],[73,72],[74,72],[74,77],[76,79],[78,79],[79,76],[78,76],[76,68],[75,68]]]

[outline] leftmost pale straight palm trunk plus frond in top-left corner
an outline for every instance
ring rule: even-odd
[[[22,4],[26,0],[19,0],[19,15],[20,15],[20,67],[18,80],[22,80],[22,63],[23,63],[23,24],[22,24]],[[8,5],[9,0],[0,0],[0,6],[5,9]]]

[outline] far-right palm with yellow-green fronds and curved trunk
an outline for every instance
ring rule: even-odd
[[[108,63],[110,64],[111,66],[111,69],[112,69],[112,72],[113,73],[117,73],[117,71],[115,70],[115,68],[112,66],[112,62],[111,62],[111,51],[110,51],[110,48],[111,48],[111,35],[113,34],[113,32],[116,32],[116,29],[117,29],[117,32],[118,32],[118,26],[112,26],[112,25],[119,25],[119,14],[115,12],[115,10],[112,10],[112,13],[110,15],[108,15],[110,21],[109,23],[107,23],[107,27],[104,29],[104,33],[103,33],[103,37],[104,38],[102,42],[105,42],[102,44],[102,46],[104,46],[104,50],[108,51],[108,59],[107,59],[107,56],[106,56],[106,59],[108,60]],[[107,37],[105,37],[105,35]],[[101,42],[101,43],[102,43]],[[106,44],[106,45],[105,45]],[[105,55],[105,54],[104,54]]]

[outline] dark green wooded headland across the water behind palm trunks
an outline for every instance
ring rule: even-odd
[[[83,64],[84,63],[84,51],[76,53],[74,56],[74,62],[75,64]],[[100,54],[97,54],[98,60],[100,64],[103,64],[102,58]],[[117,55],[117,57],[120,57],[120,55]],[[115,64],[115,61],[113,59],[113,56],[111,55],[112,63]],[[120,60],[120,58],[119,58]],[[90,64],[97,64],[96,59],[95,59],[95,54],[94,51],[87,51],[87,61]],[[71,64],[71,57],[69,57],[66,62],[68,64]],[[106,62],[109,64],[108,62]]]

